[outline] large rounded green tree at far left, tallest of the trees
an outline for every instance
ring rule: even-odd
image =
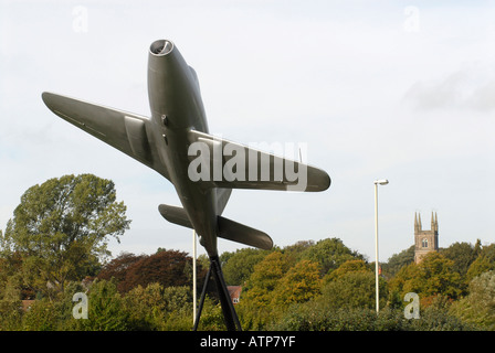
[[[23,280],[34,290],[63,290],[66,281],[94,274],[109,255],[108,238],[119,242],[129,228],[125,212],[110,180],[92,174],[50,179],[21,196],[2,253],[22,257]]]

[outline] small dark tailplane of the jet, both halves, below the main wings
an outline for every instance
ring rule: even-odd
[[[182,207],[159,205],[158,211],[168,222],[193,228],[188,214]],[[218,216],[219,237],[261,249],[270,250],[273,247],[272,238],[261,231],[254,229],[229,218]]]

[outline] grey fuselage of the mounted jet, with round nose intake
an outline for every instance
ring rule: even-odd
[[[208,133],[208,122],[198,78],[173,44],[159,40],[151,44],[148,60],[148,95],[155,139],[161,140],[160,159],[167,167],[183,208],[201,236],[209,256],[218,255],[219,215],[217,189],[201,188],[188,175],[188,131]]]

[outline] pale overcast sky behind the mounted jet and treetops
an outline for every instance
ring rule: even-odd
[[[147,60],[175,42],[198,73],[210,132],[307,143],[320,193],[240,191],[224,216],[276,245],[339,237],[375,260],[413,244],[414,212],[440,246],[495,240],[495,6],[489,1],[0,0],[0,228],[30,186],[112,179],[131,228],[120,252],[191,252],[157,172],[52,114],[50,90],[149,116]],[[219,242],[220,252],[242,246]]]

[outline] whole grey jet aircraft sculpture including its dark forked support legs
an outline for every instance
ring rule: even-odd
[[[263,249],[272,248],[273,242],[263,232],[222,217],[232,189],[324,191],[330,178],[320,169],[211,136],[198,76],[171,41],[155,41],[149,49],[148,96],[151,118],[48,92],[42,99],[62,119],[173,184],[182,207],[161,204],[158,210],[167,221],[196,229],[210,258],[194,330],[210,277],[227,329],[241,330],[223,280],[217,238]]]

